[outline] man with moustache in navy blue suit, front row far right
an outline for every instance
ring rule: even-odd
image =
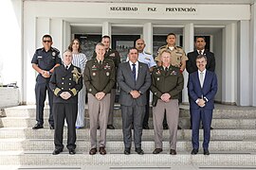
[[[192,155],[198,153],[200,121],[204,125],[204,155],[210,155],[210,124],[214,109],[214,96],[217,93],[217,76],[206,69],[207,58],[199,55],[196,58],[197,72],[189,76],[188,91],[192,115]]]

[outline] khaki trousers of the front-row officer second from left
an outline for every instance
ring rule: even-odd
[[[88,112],[90,117],[90,141],[91,148],[97,147],[97,128],[100,126],[99,145],[106,145],[106,127],[108,110],[110,104],[110,93],[107,93],[99,101],[92,93],[88,93]]]

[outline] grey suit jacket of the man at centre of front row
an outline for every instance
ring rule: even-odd
[[[151,76],[148,65],[138,61],[137,80],[134,76],[129,61],[119,64],[118,83],[120,87],[119,103],[124,106],[132,106],[135,101],[138,106],[144,106],[147,103],[146,92],[151,85]],[[134,99],[131,91],[140,92],[140,96]]]

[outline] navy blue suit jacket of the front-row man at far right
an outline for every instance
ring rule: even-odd
[[[203,87],[201,88],[198,72],[193,72],[189,75],[188,91],[190,95],[190,108],[199,109],[200,107],[195,103],[198,98],[206,97],[208,102],[204,109],[214,109],[214,96],[217,93],[218,83],[217,76],[214,72],[206,71]]]

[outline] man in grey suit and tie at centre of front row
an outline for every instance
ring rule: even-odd
[[[118,83],[120,87],[122,132],[125,146],[124,154],[131,153],[132,123],[134,123],[134,141],[137,154],[144,154],[141,149],[142,122],[147,102],[146,92],[151,85],[148,65],[137,61],[135,47],[128,50],[129,61],[119,64]]]

